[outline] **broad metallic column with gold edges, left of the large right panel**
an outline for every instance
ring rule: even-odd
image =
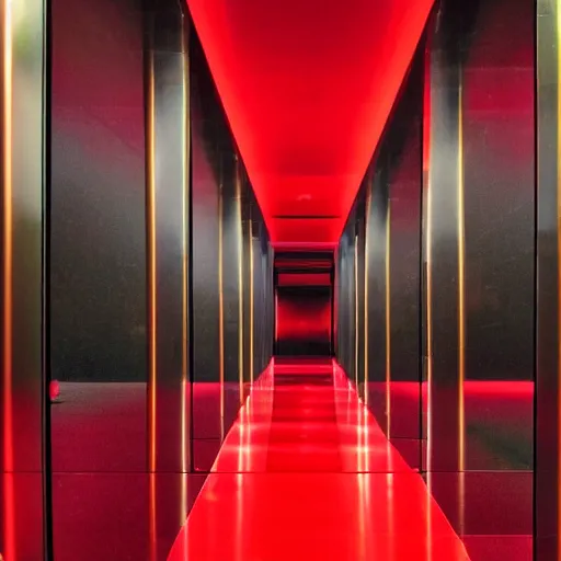
[[[447,8],[438,14],[432,41],[425,123],[431,131],[424,231],[428,471],[461,471],[465,451],[462,69],[454,35],[457,14],[453,2]]]

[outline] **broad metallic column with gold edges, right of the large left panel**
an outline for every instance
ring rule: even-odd
[[[147,76],[148,417],[150,471],[190,469],[187,20],[150,14]]]

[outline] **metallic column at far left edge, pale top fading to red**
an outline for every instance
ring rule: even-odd
[[[43,0],[3,0],[0,25],[0,552],[19,561],[44,558]]]

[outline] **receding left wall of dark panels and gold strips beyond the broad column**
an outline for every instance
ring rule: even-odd
[[[206,457],[205,461],[195,458],[195,469],[205,470],[237,416],[248,382],[261,373],[255,364],[271,357],[262,341],[271,331],[255,330],[255,314],[256,295],[271,290],[273,275],[271,268],[265,271],[272,257],[267,231],[195,33],[190,45],[193,437],[198,456]],[[256,259],[263,261],[260,276]],[[272,324],[272,310],[264,302],[259,306],[264,325]],[[257,356],[261,348],[267,348],[266,358]]]

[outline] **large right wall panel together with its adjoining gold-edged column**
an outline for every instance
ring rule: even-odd
[[[531,4],[449,0],[435,19],[425,123],[430,470],[531,468]],[[479,381],[501,382],[488,386],[495,393],[484,405]],[[516,423],[514,387],[528,393]]]

